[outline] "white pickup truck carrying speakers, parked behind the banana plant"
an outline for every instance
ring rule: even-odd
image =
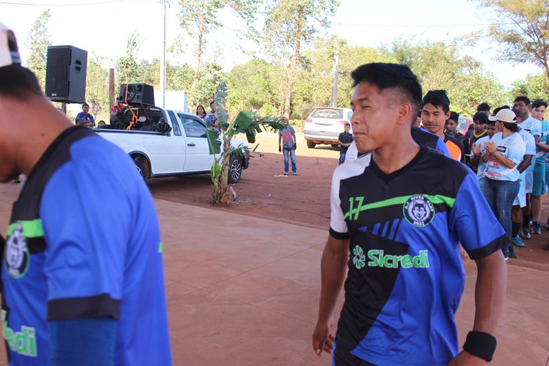
[[[139,122],[129,130],[132,111]],[[166,126],[169,126],[167,127]],[[96,132],[124,150],[143,179],[183,174],[209,174],[214,155],[210,155],[205,122],[191,113],[158,107],[124,108],[110,119],[110,125]],[[237,183],[248,168],[249,155],[244,141],[233,139],[231,146],[242,148],[243,157],[231,156],[229,183]]]

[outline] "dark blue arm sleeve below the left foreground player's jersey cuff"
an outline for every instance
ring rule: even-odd
[[[115,365],[117,321],[50,321],[47,330],[52,366]]]

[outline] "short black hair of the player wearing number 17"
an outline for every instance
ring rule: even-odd
[[[369,82],[383,91],[384,89],[398,89],[406,95],[408,102],[414,109],[421,104],[421,84],[410,67],[385,62],[373,62],[357,67],[351,72],[353,87],[360,82]]]

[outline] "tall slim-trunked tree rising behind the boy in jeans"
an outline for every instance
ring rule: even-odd
[[[303,43],[311,41],[319,28],[329,26],[338,1],[333,0],[271,0],[268,4],[264,38],[274,54],[289,56],[285,88],[284,116],[290,117],[296,67]]]

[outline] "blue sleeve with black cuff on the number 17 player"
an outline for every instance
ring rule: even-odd
[[[449,226],[473,260],[509,244],[509,238],[482,196],[473,172],[469,172],[460,185],[450,210]]]

